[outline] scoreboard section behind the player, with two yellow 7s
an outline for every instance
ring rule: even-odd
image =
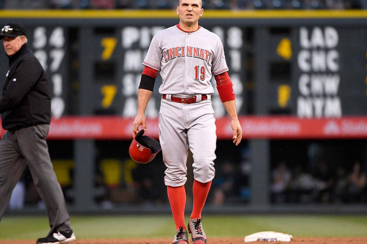
[[[157,31],[169,26],[124,26],[116,29],[95,28],[93,36],[94,68],[94,113],[135,117],[138,86],[143,70],[142,62],[150,41]],[[239,27],[225,29],[219,26],[207,27],[217,33],[224,42],[230,75],[237,93],[239,110],[244,101],[245,63],[243,30]],[[215,80],[212,80],[215,87]],[[157,78],[153,96],[146,109],[147,117],[158,117],[161,84]],[[217,116],[224,116],[225,110],[218,93],[212,97]]]

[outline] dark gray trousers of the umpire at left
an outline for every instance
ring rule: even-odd
[[[46,136],[49,124],[7,131],[0,140],[0,220],[11,192],[28,164],[48,213],[50,233],[70,229],[68,210],[60,184],[51,164]]]

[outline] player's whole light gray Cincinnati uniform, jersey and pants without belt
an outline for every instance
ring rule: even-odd
[[[167,94],[159,111],[159,140],[167,166],[164,182],[178,187],[186,182],[188,148],[193,153],[194,178],[214,178],[216,127],[210,94],[212,75],[228,71],[219,37],[200,27],[186,33],[177,26],[159,31],[152,39],[143,64],[160,71],[159,93]],[[201,101],[206,94],[207,100]],[[196,102],[172,102],[171,97],[196,95]]]

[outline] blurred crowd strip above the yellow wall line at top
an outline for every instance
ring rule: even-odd
[[[4,9],[172,9],[178,0],[0,0]],[[367,0],[203,0],[206,9],[366,9]]]

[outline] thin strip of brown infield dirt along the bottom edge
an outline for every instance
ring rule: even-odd
[[[82,239],[73,242],[73,244],[171,244],[171,239]],[[35,240],[0,240],[0,244],[34,244]],[[190,244],[192,242],[190,241]],[[243,238],[211,238],[207,244],[243,244]],[[265,243],[265,242],[249,242]],[[287,242],[270,242],[274,244]],[[367,237],[343,237],[343,238],[294,238],[290,244],[366,244]]]

